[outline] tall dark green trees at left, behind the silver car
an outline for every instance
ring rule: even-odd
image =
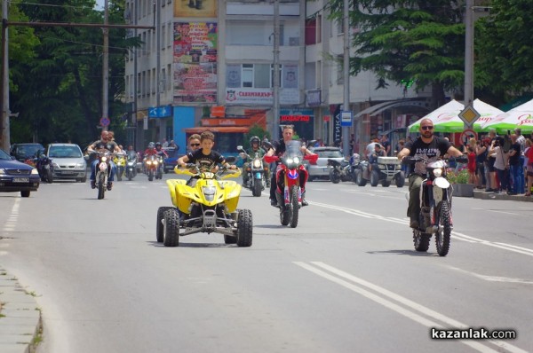
[[[110,2],[109,23],[122,23],[124,1]],[[44,0],[19,3],[29,21],[103,23],[103,11],[94,10],[94,0]],[[39,43],[34,57],[14,63],[20,80],[12,94],[12,140],[76,142],[80,145],[98,136],[102,116],[103,35],[98,27],[35,27]],[[109,29],[109,116],[123,114],[124,55],[136,43],[126,40],[125,30]]]

